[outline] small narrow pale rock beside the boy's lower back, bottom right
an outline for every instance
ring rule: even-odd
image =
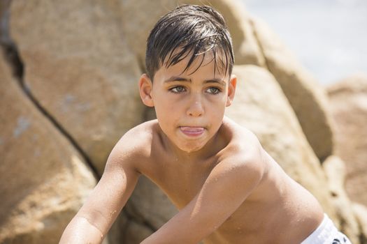
[[[350,238],[352,243],[359,242],[359,224],[354,217],[352,203],[345,192],[345,164],[338,156],[331,155],[322,164],[331,190],[331,201],[340,220],[338,229]],[[338,223],[336,223],[338,224]]]

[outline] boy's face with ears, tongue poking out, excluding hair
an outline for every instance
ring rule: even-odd
[[[203,63],[202,56],[198,56],[182,72],[189,58],[168,68],[161,66],[154,75],[154,84],[147,75],[142,75],[139,84],[141,98],[145,105],[154,106],[161,130],[186,152],[200,150],[215,135],[236,89],[234,75],[229,77],[218,66],[214,73],[215,61],[208,53]]]

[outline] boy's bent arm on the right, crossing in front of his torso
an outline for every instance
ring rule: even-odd
[[[199,243],[236,211],[262,175],[259,162],[220,162],[196,197],[142,244]]]

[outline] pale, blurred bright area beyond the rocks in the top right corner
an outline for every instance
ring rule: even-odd
[[[240,0],[327,86],[367,75],[366,0]]]

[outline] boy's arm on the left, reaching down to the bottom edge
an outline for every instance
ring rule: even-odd
[[[85,204],[68,224],[62,243],[101,243],[133,192],[139,173],[117,144],[108,157],[103,176]],[[124,150],[124,151],[122,151]]]

